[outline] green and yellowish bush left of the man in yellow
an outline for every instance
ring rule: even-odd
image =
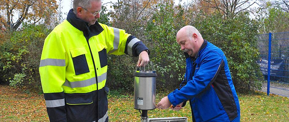
[[[0,44],[0,74],[6,84],[41,89],[38,72],[42,46],[49,34],[44,25],[24,24]]]

